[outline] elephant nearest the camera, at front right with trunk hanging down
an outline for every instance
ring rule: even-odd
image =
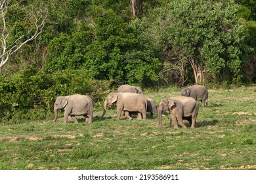
[[[186,128],[183,120],[188,120],[190,127],[196,127],[198,103],[196,103],[196,100],[192,97],[177,96],[171,97],[169,99],[167,97],[161,99],[160,105],[158,107],[159,127],[163,127],[161,123],[161,114],[165,110],[169,110],[171,117],[170,125],[171,122],[173,122],[175,128],[178,128],[177,121],[179,122],[179,125],[181,125],[183,128]]]

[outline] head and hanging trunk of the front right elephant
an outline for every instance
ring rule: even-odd
[[[169,112],[171,113],[171,110],[173,109],[173,107],[175,107],[175,102],[171,99],[168,98],[163,98],[161,99],[160,105],[158,107],[158,126],[159,127],[163,127],[162,123],[161,123],[161,114],[162,112],[169,110]]]

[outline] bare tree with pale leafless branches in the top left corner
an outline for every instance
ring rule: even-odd
[[[1,31],[1,47],[0,47],[0,71],[3,68],[3,65],[7,63],[9,58],[18,52],[24,44],[32,41],[38,37],[38,35],[42,32],[42,29],[45,25],[45,18],[47,17],[47,11],[39,8],[34,11],[33,9],[29,9],[26,13],[30,16],[30,26],[26,33],[22,33],[22,31],[15,31],[16,25],[11,25],[13,22],[8,22],[7,14],[9,9],[12,7],[17,7],[18,3],[12,5],[11,0],[2,0],[0,1],[0,31]],[[9,24],[10,23],[10,24]]]

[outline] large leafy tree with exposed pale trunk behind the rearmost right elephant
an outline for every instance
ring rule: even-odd
[[[205,78],[240,82],[244,27],[236,12],[232,0],[174,0],[155,10],[153,37],[159,35],[155,42],[169,52],[165,55],[186,60],[195,83]]]

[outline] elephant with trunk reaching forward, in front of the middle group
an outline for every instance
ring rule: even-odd
[[[125,112],[125,116],[132,120],[129,112],[137,112],[139,120],[146,119],[146,108],[147,102],[146,97],[144,95],[140,95],[138,93],[117,93],[111,92],[108,94],[104,101],[104,111],[102,114],[102,118],[106,114],[106,109],[116,103],[117,109],[117,120],[120,120],[121,112]],[[142,116],[141,116],[142,115]]]

